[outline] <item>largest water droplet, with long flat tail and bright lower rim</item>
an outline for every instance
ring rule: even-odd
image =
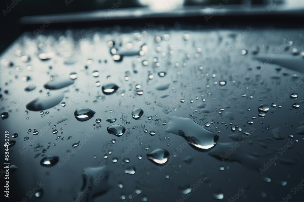
[[[184,137],[195,149],[210,149],[216,145],[219,139],[218,135],[206,130],[190,118],[170,116],[168,119],[170,122],[165,131]]]

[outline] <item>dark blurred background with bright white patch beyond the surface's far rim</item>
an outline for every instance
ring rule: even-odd
[[[119,5],[119,10],[124,8],[143,8],[149,9],[152,12],[167,13],[174,15],[174,10],[182,9],[187,12],[188,8],[204,9],[215,8],[220,4],[225,5],[221,7],[221,13],[230,12],[249,12],[254,11],[259,14],[278,13],[288,10],[289,14],[294,15],[290,11],[299,10],[303,8],[302,0],[121,0],[123,3]],[[89,12],[95,10],[105,10],[112,8],[114,4],[117,5],[117,0],[53,0],[53,1],[38,1],[38,0],[2,0],[1,1],[1,27],[0,32],[0,52],[9,46],[24,30],[30,29],[27,23],[20,21],[24,16],[35,15],[55,15],[60,13],[74,13],[74,12]],[[15,4],[15,5],[14,5]],[[228,5],[228,6],[227,6]],[[275,8],[275,9],[274,9]],[[189,10],[189,9],[188,9]],[[208,10],[205,10],[208,14]],[[210,11],[209,11],[210,12]],[[116,12],[118,13],[118,12]],[[303,13],[303,12],[302,12]],[[176,15],[177,13],[175,13]],[[284,13],[286,16],[286,13]],[[138,16],[140,17],[140,16]],[[100,16],[101,21],[105,21],[104,16]],[[240,18],[236,20],[240,21]],[[204,22],[202,22],[204,23]],[[214,23],[214,22],[212,22]],[[300,23],[300,22],[299,22]],[[23,24],[23,26],[22,26]],[[69,25],[65,25],[69,26]]]

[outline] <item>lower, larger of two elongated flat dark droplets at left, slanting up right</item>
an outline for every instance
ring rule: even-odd
[[[31,111],[41,111],[45,109],[52,108],[59,104],[61,100],[64,98],[63,93],[52,94],[50,96],[44,96],[36,98],[26,104],[26,109]]]

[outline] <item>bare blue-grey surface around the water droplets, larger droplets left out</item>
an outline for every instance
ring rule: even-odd
[[[101,183],[108,183],[112,187],[109,187],[105,194],[93,197],[92,201],[120,201],[121,195],[127,197],[136,190],[138,185],[145,188],[133,201],[141,201],[143,197],[147,197],[148,201],[182,201],[179,186],[192,185],[203,175],[208,179],[190,192],[188,201],[216,201],[213,194],[217,192],[222,192],[223,200],[228,201],[230,197],[237,194],[239,188],[243,187],[246,192],[238,201],[281,201],[282,197],[287,197],[288,194],[292,195],[290,201],[301,201],[304,189],[302,188],[295,195],[291,189],[297,186],[304,177],[303,134],[295,134],[297,128],[301,126],[300,122],[303,121],[303,75],[299,71],[284,67],[281,69],[275,64],[269,64],[266,68],[262,67],[259,70],[257,66],[261,65],[261,61],[255,60],[253,53],[257,51],[257,47],[260,47],[257,56],[273,54],[275,58],[280,58],[281,55],[292,55],[292,48],[303,49],[303,29],[259,29],[251,26],[253,30],[249,32],[247,30],[248,33],[246,33],[246,27],[205,29],[196,26],[194,29],[176,24],[174,29],[154,25],[147,32],[140,33],[139,31],[143,31],[144,26],[134,28],[134,30],[130,27],[116,26],[115,28],[45,31],[22,51],[21,55],[30,56],[31,60],[28,62],[22,62],[20,57],[15,55],[20,44],[24,44],[31,35],[34,35],[24,33],[1,55],[1,60],[12,61],[14,64],[9,68],[3,65],[3,61],[1,63],[2,108],[0,112],[9,111],[11,108],[13,110],[10,111],[9,118],[0,123],[2,131],[8,130],[10,135],[19,134],[16,144],[10,148],[11,164],[18,167],[10,175],[12,190],[14,189],[14,194],[18,195],[17,201],[24,197],[29,201],[72,201],[82,188],[82,171],[87,167],[101,166],[106,166],[102,169],[109,171],[107,182],[103,179]],[[244,38],[238,36],[242,33],[246,33]],[[170,35],[168,40],[164,39],[164,34]],[[159,43],[155,42],[157,36],[162,38]],[[84,41],[79,44],[81,37]],[[136,37],[140,39],[134,39]],[[124,56],[121,62],[113,61],[107,42],[115,41],[118,51],[122,51],[126,43],[132,39],[136,41],[133,45],[136,51],[141,49],[141,45],[147,45],[145,55]],[[236,43],[233,46],[234,41]],[[293,43],[286,41],[293,41]],[[74,42],[77,43],[77,47],[73,47]],[[39,44],[44,44],[45,48],[38,50]],[[222,55],[228,46],[232,50],[227,51],[229,52],[227,55]],[[157,47],[160,47],[161,51],[157,52]],[[281,47],[282,51],[277,52],[278,47]],[[63,54],[63,51],[69,51],[70,48],[73,50],[72,57],[65,60],[69,64],[58,65],[60,53]],[[172,56],[168,62],[164,62],[165,57],[162,54],[168,55],[170,48]],[[201,51],[198,52],[197,48],[201,48]],[[241,55],[242,50],[246,50],[247,54]],[[40,52],[54,52],[55,56],[50,60],[41,61],[37,57]],[[219,60],[218,55],[226,56],[226,58]],[[301,55],[293,57],[296,60],[298,58],[304,60]],[[153,58],[157,58],[157,61],[161,63],[160,67],[156,67]],[[92,59],[92,62],[88,59]],[[101,63],[98,60],[101,60]],[[143,65],[143,61],[148,61],[148,65]],[[33,71],[28,70],[29,65],[32,66]],[[17,71],[16,67],[20,67],[20,71]],[[199,67],[202,67],[202,70]],[[281,70],[278,71],[276,68]],[[92,76],[94,70],[99,71],[98,77]],[[166,75],[160,77],[157,74],[160,71],[165,71]],[[58,90],[47,90],[43,87],[51,77],[54,80],[65,79],[69,78],[71,72],[76,72],[78,75],[74,84]],[[148,78],[149,74],[154,76],[153,79]],[[125,80],[126,75],[129,76],[128,81]],[[22,81],[24,76],[30,76],[31,80]],[[227,81],[226,85],[219,84],[222,80]],[[115,83],[119,88],[115,94],[105,95],[102,93],[101,86],[95,86],[95,81],[100,81],[101,86]],[[36,89],[25,92],[24,88],[32,83],[38,85]],[[297,83],[300,84],[297,85]],[[143,90],[142,95],[136,94],[136,84],[140,84],[139,89]],[[166,84],[168,84],[168,89],[156,90],[158,85],[166,86]],[[9,93],[5,94],[5,90]],[[28,110],[27,114],[24,113],[25,105],[36,97],[57,92],[64,93],[62,100],[66,103],[64,107],[58,104],[43,110],[43,115],[40,115],[39,111]],[[298,93],[299,97],[291,99],[289,96],[292,92]],[[124,96],[121,95],[122,93]],[[288,97],[281,104],[282,108],[270,107],[271,103],[280,104],[278,101],[285,94]],[[253,97],[250,98],[250,96]],[[185,102],[181,103],[181,99],[185,99]],[[202,99],[205,101],[203,102]],[[190,100],[193,100],[193,103]],[[15,107],[18,106],[16,109],[13,107],[14,102],[17,104]],[[206,106],[200,104],[202,102]],[[258,107],[263,103],[268,104],[270,110],[265,118],[260,118]],[[299,109],[293,109],[293,103],[299,103]],[[74,111],[82,107],[95,111],[94,117],[84,122],[77,121]],[[140,119],[132,118],[133,108],[143,109],[144,114]],[[221,111],[220,108],[224,110]],[[227,118],[226,112],[232,112],[233,115],[226,114],[230,117]],[[152,116],[153,119],[148,120],[148,116]],[[205,128],[219,135],[219,141],[208,151],[198,151],[183,137],[165,132],[168,125],[173,124],[168,122],[169,116],[191,118],[202,126],[206,122],[211,123],[210,127]],[[247,121],[252,120],[252,116],[256,119],[253,120],[252,125],[249,125]],[[56,124],[62,117],[68,119]],[[107,127],[112,125],[106,121],[109,117],[117,118],[117,121],[112,124],[123,125],[126,128],[125,134],[116,137],[107,132]],[[95,123],[97,118],[102,120],[100,124]],[[159,121],[155,121],[157,118]],[[234,119],[231,120],[232,118]],[[163,125],[163,121],[167,124]],[[230,123],[241,127],[242,131],[232,132],[233,125]],[[133,129],[133,126],[136,128]],[[187,133],[191,133],[193,126],[189,124],[183,127],[188,127]],[[272,136],[271,130],[277,127],[281,127],[278,131],[284,139],[277,140]],[[33,135],[35,128],[39,131],[36,136]],[[148,133],[143,131],[144,128],[148,130]],[[28,129],[32,131],[27,133]],[[57,134],[52,133],[54,129],[58,130]],[[155,131],[154,136],[150,136],[151,130]],[[231,154],[229,161],[215,158],[225,155],[225,151],[236,144],[229,135],[241,135],[245,131],[250,131],[250,137],[244,142],[238,141],[240,147]],[[86,134],[92,137],[87,136],[85,144],[73,148],[74,143],[85,140]],[[61,137],[56,139],[59,135]],[[288,135],[293,135],[293,138]],[[37,140],[21,156],[19,149],[28,143],[28,140],[23,141],[26,136],[29,140],[35,137]],[[71,139],[67,139],[69,136],[72,136]],[[64,137],[63,140],[61,140],[62,137]],[[116,143],[109,144],[112,139],[116,139]],[[278,149],[285,146],[289,140],[298,142],[294,142],[280,156]],[[59,157],[59,162],[54,167],[40,165],[40,160],[43,158],[41,152],[47,148],[48,143],[50,147],[44,155]],[[33,147],[37,144],[43,146],[34,149]],[[135,145],[135,147],[126,154],[125,157],[130,159],[130,162],[126,163],[120,153],[130,145]],[[161,169],[146,157],[147,153],[157,148],[168,150],[170,157],[176,155],[172,161],[165,164],[166,167],[161,167]],[[76,151],[74,156],[61,166],[59,163],[62,163],[62,157],[66,157],[67,153],[71,153],[73,149]],[[112,154],[108,154],[109,151],[112,151]],[[38,153],[41,154],[35,158]],[[105,159],[105,155],[108,158]],[[142,155],[143,158],[138,159],[137,155]],[[270,166],[261,174],[259,168],[263,168],[263,164],[267,164],[268,159],[273,158],[274,155],[279,156],[275,162],[276,166]],[[189,159],[187,158],[189,156],[193,157],[193,161],[187,164],[184,160]],[[112,162],[113,157],[118,158],[116,163]],[[135,167],[136,173],[133,175],[124,173],[127,167]],[[224,167],[224,170],[221,171],[220,167]],[[96,177],[96,174],[90,173],[90,169],[87,168],[86,172],[92,178]],[[169,175],[169,179],[166,175]],[[264,177],[271,178],[271,182],[264,182]],[[26,193],[33,190],[40,181],[44,184],[43,196],[40,199],[34,197],[29,199]],[[287,182],[286,186],[279,185],[282,181]],[[117,186],[118,182],[123,183],[123,188]],[[91,194],[97,193],[96,189],[98,186]],[[104,187],[100,189],[103,190]]]

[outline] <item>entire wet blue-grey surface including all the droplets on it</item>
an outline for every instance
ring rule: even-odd
[[[302,200],[303,29],[31,35],[0,58],[18,201]]]

